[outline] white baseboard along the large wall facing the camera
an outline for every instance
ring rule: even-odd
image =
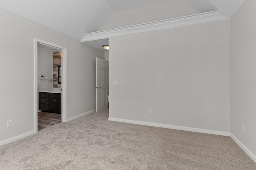
[[[111,118],[111,117],[109,117],[108,120],[119,121],[119,122],[124,122],[124,123],[133,123],[133,124],[138,124],[138,125],[163,127],[163,128],[176,129],[176,130],[182,130],[182,131],[191,131],[191,132],[198,132],[198,133],[208,133],[208,134],[213,134],[213,135],[230,136],[229,132],[222,132],[222,131],[212,131],[212,130],[206,130],[206,129],[173,126],[173,125],[166,125],[166,124],[160,124],[160,123],[150,123],[150,122],[144,122],[144,121],[127,120],[127,119],[116,119],[116,118]]]

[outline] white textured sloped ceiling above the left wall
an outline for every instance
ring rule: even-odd
[[[0,7],[82,40],[116,12],[166,0],[0,0]]]

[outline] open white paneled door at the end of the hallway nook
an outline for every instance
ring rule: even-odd
[[[96,58],[96,112],[108,108],[108,61]]]

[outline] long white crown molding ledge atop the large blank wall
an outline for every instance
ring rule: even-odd
[[[186,27],[190,25],[199,25],[210,22],[230,20],[223,16],[220,11],[204,12],[200,14],[194,14],[189,16],[183,16],[178,18],[172,18],[167,20],[160,20],[148,23],[142,23],[138,25],[131,25],[127,27],[120,27],[114,29],[108,29],[103,31],[97,31],[92,33],[85,33],[81,42],[93,41],[98,39],[106,39],[110,37],[116,37],[120,35],[128,35],[134,33],[143,33],[148,31],[157,31],[162,29],[170,29],[177,27]]]

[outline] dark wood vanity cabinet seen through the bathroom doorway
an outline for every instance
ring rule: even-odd
[[[39,92],[39,109],[51,113],[61,113],[61,93]]]

